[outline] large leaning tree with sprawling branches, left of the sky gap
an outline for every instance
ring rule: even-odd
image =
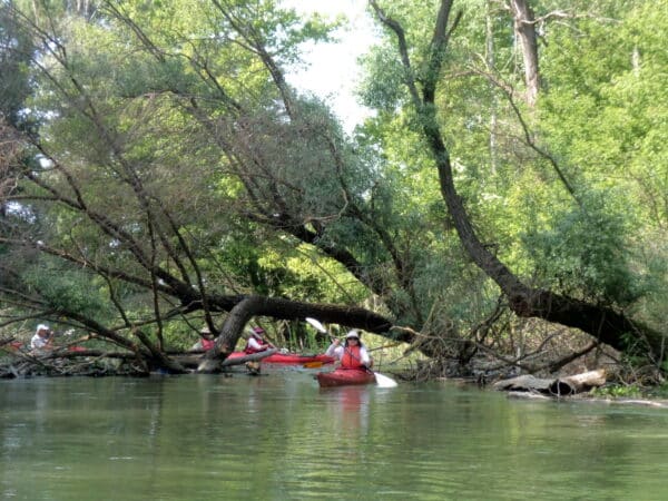
[[[4,135],[22,147],[3,165],[21,187],[4,197],[14,208],[1,236],[12,253],[6,301],[174,371],[164,332],[175,318],[222,332],[212,357],[233,350],[253,315],[387,332],[351,287],[341,305],[291,301],[239,263],[254,246],[287,261],[308,245],[330,277],[353,277],[394,317],[420,317],[379,219],[386,200],[366,196],[377,163],[283,75],[297,46],[328,27],[273,2],[101,2],[86,16],[53,7],[4,6],[38,48],[22,112],[39,124]]]

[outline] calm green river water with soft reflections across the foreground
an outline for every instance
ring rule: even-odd
[[[0,382],[0,497],[662,500],[668,411],[313,373]]]

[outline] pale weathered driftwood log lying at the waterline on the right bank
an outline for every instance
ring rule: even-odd
[[[556,380],[539,379],[532,375],[521,375],[493,384],[495,390],[509,392],[534,392],[550,396],[568,396],[588,392],[592,387],[606,383],[606,371],[588,371]]]

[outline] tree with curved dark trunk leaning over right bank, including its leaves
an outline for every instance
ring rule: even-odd
[[[502,71],[495,71],[493,68],[480,68],[479,65],[466,65],[465,62],[462,63],[463,68],[455,66],[460,53],[456,49],[451,50],[451,47],[455,46],[453,39],[458,37],[461,30],[460,22],[466,22],[469,11],[452,12],[453,2],[439,2],[435,27],[431,39],[416,48],[411,45],[411,41],[416,40],[415,33],[422,32],[424,28],[421,24],[415,24],[409,16],[405,16],[401,2],[384,2],[383,7],[379,2],[371,3],[376,16],[387,29],[389,42],[397,46],[396,58],[402,61],[403,82],[407,89],[402,106],[407,107],[406,109],[414,114],[414,130],[420,131],[430,150],[431,161],[439,174],[441,194],[459,239],[473,263],[484,271],[503,291],[509,299],[510,308],[519,316],[538,316],[581,328],[620,348],[627,346],[627,335],[640,334],[640,337],[647,341],[646,347],[649,353],[655,358],[660,360],[664,351],[662,335],[641,322],[631,322],[619,308],[610,306],[610,304],[627,305],[628,302],[638,297],[633,279],[631,279],[631,271],[628,266],[629,257],[632,254],[629,253],[628,247],[622,250],[623,238],[629,235],[618,233],[620,228],[628,228],[629,226],[620,226],[613,223],[616,216],[610,217],[603,212],[609,210],[611,207],[609,204],[603,206],[595,203],[596,191],[591,190],[592,185],[584,177],[577,176],[578,185],[573,184],[576,176],[570,176],[571,164],[569,158],[564,153],[562,155],[566,158],[561,158],[554,153],[559,148],[552,146],[551,136],[542,137],[537,134],[543,122],[537,121],[537,118],[531,115],[523,114],[522,107],[514,97],[512,87],[505,84],[512,81],[512,75],[505,77]],[[470,6],[469,3],[463,4],[464,8]],[[563,47],[559,46],[559,49],[561,50]],[[566,52],[573,58],[578,57],[576,51]],[[482,60],[487,62],[485,59]],[[466,72],[464,71],[466,67],[472,68]],[[566,69],[564,67],[559,68],[561,76],[569,75],[569,71],[564,71]],[[379,70],[382,71],[382,69]],[[487,120],[477,120],[475,116],[471,117],[471,111],[458,114],[454,96],[459,98],[462,94],[453,95],[449,92],[458,85],[456,82],[462,80],[466,82],[469,88],[474,88],[478,76],[484,76],[484,78],[492,80],[501,90],[501,96],[510,105],[507,119],[513,119],[512,114],[514,114],[514,119],[509,121],[505,128],[508,137],[511,139],[513,136],[515,138],[518,136],[523,137],[523,141],[518,143],[514,140],[514,143],[520,147],[523,143],[527,158],[523,161],[513,161],[512,157],[508,156],[508,167],[513,165],[532,169],[541,169],[542,167],[542,171],[537,173],[538,176],[532,176],[533,180],[538,181],[539,189],[548,196],[548,199],[556,200],[558,207],[567,208],[568,204],[576,204],[578,207],[576,212],[568,209],[561,212],[562,220],[559,220],[559,217],[554,220],[554,216],[559,212],[547,213],[552,219],[546,220],[544,210],[540,210],[542,207],[538,207],[536,203],[529,207],[531,213],[525,214],[525,216],[534,217],[539,226],[544,224],[546,228],[550,228],[550,230],[554,228],[559,232],[560,235],[552,239],[552,244],[548,244],[552,249],[556,248],[554,242],[571,244],[563,246],[568,257],[564,259],[562,256],[560,263],[551,263],[549,266],[551,269],[548,271],[547,275],[550,276],[550,279],[554,278],[554,268],[561,268],[557,272],[557,277],[562,271],[567,274],[570,273],[571,277],[576,277],[576,274],[578,274],[576,278],[576,282],[579,283],[577,291],[572,288],[572,281],[568,281],[568,284],[564,283],[563,285],[567,288],[562,291],[559,291],[559,287],[553,291],[544,288],[551,285],[546,282],[543,282],[543,287],[531,286],[522,279],[521,275],[509,267],[509,263],[513,263],[513,255],[508,254],[511,248],[499,245],[498,252],[490,250],[497,248],[498,245],[489,243],[489,239],[495,239],[495,233],[490,233],[488,230],[489,226],[484,224],[484,213],[487,210],[483,199],[477,199],[482,193],[482,181],[484,180],[488,184],[487,173],[490,171],[488,169],[483,175],[480,166],[481,163],[484,165],[489,160],[485,157],[475,155],[479,149],[472,149],[474,145],[478,145],[479,148],[482,145],[481,140],[474,140],[475,130],[483,130],[484,126],[480,124],[485,124]],[[390,81],[394,80],[390,79]],[[549,80],[546,82],[549,89],[551,88]],[[479,89],[484,90],[482,87]],[[471,96],[473,95],[471,94]],[[397,94],[394,92],[394,96],[397,96]],[[475,109],[475,107],[472,109]],[[461,120],[461,122],[458,120]],[[534,128],[537,131],[533,130]],[[473,130],[473,134],[468,134],[469,130]],[[479,137],[482,138],[482,135]],[[469,143],[471,139],[473,139],[473,143]],[[453,146],[451,147],[450,144]],[[509,143],[509,145],[512,145],[512,143]],[[508,154],[511,153],[518,154],[517,150],[509,149]],[[465,160],[462,161],[462,158],[465,158]],[[460,168],[460,165],[463,165],[463,168]],[[549,167],[550,170],[544,170],[543,166]],[[566,167],[569,167],[569,170]],[[460,175],[462,170],[463,178]],[[491,174],[494,175],[494,171],[491,170]],[[566,193],[554,191],[554,188],[550,186],[550,177],[546,175],[556,175],[552,176],[558,183],[554,187],[566,188]],[[470,185],[466,184],[469,179],[472,183]],[[510,179],[510,176],[507,175],[505,179]],[[541,185],[544,186],[544,189]],[[458,189],[458,186],[462,186],[461,190]],[[518,188],[529,195],[527,186],[524,181]],[[474,189],[470,190],[469,187]],[[501,193],[501,199],[503,199],[503,191]],[[507,193],[512,193],[512,189]],[[567,196],[563,197],[563,195]],[[524,198],[527,199],[525,196]],[[538,200],[543,207],[546,206],[544,198],[538,198]],[[548,203],[548,207],[553,209],[554,204]],[[603,207],[606,208],[603,209]],[[480,216],[478,210],[481,210]],[[536,210],[542,212],[542,217],[540,212],[536,214]],[[573,216],[577,223],[572,219],[569,223],[568,219]],[[474,223],[479,217],[482,218],[480,225]],[[600,248],[595,248],[596,244],[593,243],[582,245],[586,238],[584,235],[587,237],[605,235],[606,238],[599,240]],[[529,243],[529,240],[525,242]],[[530,243],[536,245],[538,240],[532,239]],[[507,255],[505,259],[502,257],[503,253]],[[513,254],[518,256],[517,253]],[[543,265],[546,258],[554,257],[548,254],[543,254],[540,258]],[[574,265],[577,272],[573,269],[574,263],[578,263]],[[569,267],[571,272],[567,272]],[[608,268],[606,269],[606,267]],[[623,289],[620,291],[619,287]],[[568,292],[573,291],[574,295],[568,294]],[[592,296],[596,296],[595,302],[588,302],[592,299]]]

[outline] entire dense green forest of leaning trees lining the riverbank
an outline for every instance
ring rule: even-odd
[[[668,369],[668,1],[367,13],[348,134],[287,78],[345,19],[3,0],[0,338],[50,322],[178,373],[207,326],[217,371],[249,322],[294,343],[315,317],[432,374]]]

